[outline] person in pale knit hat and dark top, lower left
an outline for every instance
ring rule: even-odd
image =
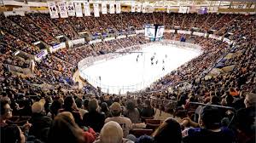
[[[34,135],[37,139],[45,141],[52,119],[45,116],[44,104],[44,99],[32,104],[32,118],[29,121],[32,123],[32,127],[29,130],[29,135]]]

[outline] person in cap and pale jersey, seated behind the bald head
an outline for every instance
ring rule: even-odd
[[[105,123],[108,123],[110,121],[119,123],[119,125],[123,129],[124,137],[126,137],[129,134],[129,131],[132,129],[131,119],[128,117],[121,116],[122,107],[118,102],[113,102],[113,104],[110,106],[110,111],[113,117],[106,118]]]

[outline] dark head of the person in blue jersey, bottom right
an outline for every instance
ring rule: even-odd
[[[201,120],[206,129],[218,129],[221,123],[221,115],[217,107],[204,106],[201,109]]]

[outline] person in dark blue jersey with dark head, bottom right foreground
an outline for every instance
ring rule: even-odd
[[[198,125],[200,128],[185,129],[184,143],[233,143],[234,134],[230,129],[220,127],[221,113],[217,107],[204,106],[201,109]],[[196,123],[190,123],[196,124]],[[196,125],[197,126],[197,125]]]

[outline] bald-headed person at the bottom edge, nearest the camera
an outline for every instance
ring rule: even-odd
[[[119,123],[110,121],[102,128],[100,139],[94,143],[133,143],[131,140],[123,138],[123,130]]]

